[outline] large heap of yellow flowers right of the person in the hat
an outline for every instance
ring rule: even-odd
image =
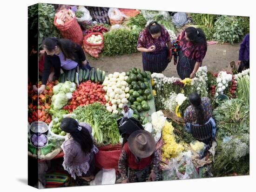
[[[175,135],[173,133],[173,126],[171,122],[166,121],[162,128],[162,160],[170,159],[176,157],[182,151],[184,151],[184,146],[175,141]]]

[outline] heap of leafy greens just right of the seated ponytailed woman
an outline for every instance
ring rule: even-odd
[[[249,133],[249,105],[235,98],[223,102],[213,111],[218,140],[224,136]]]

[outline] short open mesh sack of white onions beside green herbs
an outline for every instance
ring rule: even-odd
[[[101,37],[101,41],[97,42],[88,42],[91,41],[92,38],[98,38]],[[100,32],[92,32],[86,35],[83,39],[83,50],[87,52],[90,56],[94,58],[99,57],[99,53],[101,53],[101,50],[104,48],[103,43],[103,35]]]

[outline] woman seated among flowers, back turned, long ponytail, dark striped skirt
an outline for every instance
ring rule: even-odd
[[[206,144],[204,157],[212,142],[215,140],[216,124],[212,118],[212,106],[208,97],[202,97],[193,92],[189,95],[191,105],[185,110],[183,119],[186,122],[186,129],[193,137]],[[207,154],[206,160],[209,158]]]

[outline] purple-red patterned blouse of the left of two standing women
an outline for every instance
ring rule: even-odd
[[[137,48],[144,47],[148,49],[150,46],[155,45],[155,51],[152,53],[157,54],[167,47],[168,41],[170,41],[170,36],[164,26],[161,26],[161,36],[159,38],[153,38],[148,30],[144,29],[139,35]]]

